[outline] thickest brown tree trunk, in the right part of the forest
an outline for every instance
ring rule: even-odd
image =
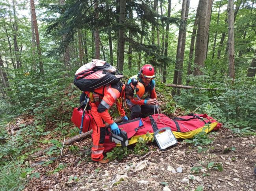
[[[204,67],[206,59],[207,40],[210,25],[212,0],[201,0],[198,18],[197,41],[195,47],[195,70],[194,75],[202,75],[201,67]],[[198,5],[199,6],[199,5]]]

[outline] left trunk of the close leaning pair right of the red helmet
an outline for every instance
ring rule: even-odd
[[[175,63],[174,76],[173,76],[173,84],[177,84],[178,72],[179,72],[179,69],[180,69],[180,65],[183,64],[183,59],[184,59],[184,52],[182,53],[182,40],[186,40],[186,39],[183,38],[183,34],[186,33],[186,31],[184,31],[184,29],[185,29],[184,22],[185,22],[186,6],[187,6],[187,0],[182,0],[182,9],[181,9],[181,16],[180,16],[180,20],[182,22],[180,23],[180,29],[179,29],[178,45],[177,45],[177,51],[176,51],[176,63]],[[176,90],[173,91],[173,94],[175,94],[175,93],[176,93]]]

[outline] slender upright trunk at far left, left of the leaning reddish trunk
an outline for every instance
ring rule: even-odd
[[[13,42],[14,42],[14,51],[15,51],[15,57],[16,57],[16,63],[17,63],[17,68],[21,67],[20,63],[20,52],[18,48],[18,43],[17,43],[17,33],[18,33],[18,24],[17,24],[17,16],[16,16],[16,8],[15,8],[16,0],[13,0],[13,17],[14,17],[14,23],[13,23]]]

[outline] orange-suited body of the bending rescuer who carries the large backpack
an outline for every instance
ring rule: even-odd
[[[122,107],[122,83],[118,82],[117,84],[108,84],[102,87],[99,87],[94,90],[94,92],[85,91],[80,96],[80,103],[85,100],[85,97],[89,97],[89,106],[88,109],[91,116],[93,116],[92,122],[92,139],[93,147],[91,148],[91,159],[100,163],[107,163],[108,159],[104,159],[104,140],[106,135],[106,123],[111,127],[111,130],[116,135],[120,134],[120,130],[117,124],[114,122],[113,118],[109,115],[108,109],[116,103],[119,115],[122,116],[123,122],[128,121],[128,118],[125,115],[125,111]]]

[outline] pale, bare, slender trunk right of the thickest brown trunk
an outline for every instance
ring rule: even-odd
[[[234,0],[228,0],[228,60],[229,77],[235,79],[235,42],[234,42]]]

